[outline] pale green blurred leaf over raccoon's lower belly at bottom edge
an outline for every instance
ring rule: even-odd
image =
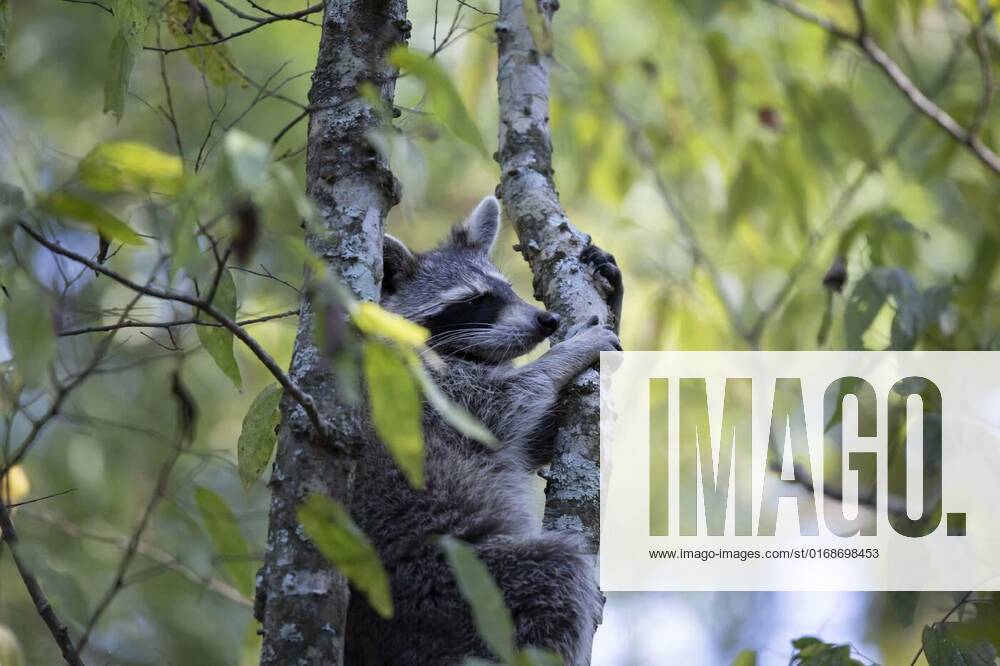
[[[468,544],[454,537],[442,536],[439,543],[458,581],[458,589],[472,609],[479,637],[501,661],[514,662],[514,621],[486,565]]]

